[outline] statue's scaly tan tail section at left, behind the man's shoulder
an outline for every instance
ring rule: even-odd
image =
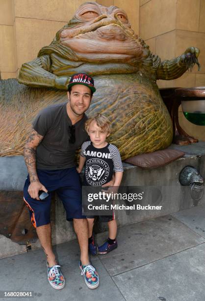
[[[29,88],[16,79],[0,80],[0,156],[23,154],[37,113],[66,99],[66,91]]]

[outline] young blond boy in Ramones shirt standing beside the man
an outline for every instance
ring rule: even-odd
[[[113,171],[115,180],[113,186],[120,186],[123,177],[123,165],[118,149],[106,142],[110,134],[110,121],[105,116],[98,114],[85,122],[85,130],[91,141],[82,144],[79,166],[77,172],[82,171],[85,163],[84,185],[102,186],[112,179]],[[102,215],[99,219],[108,222],[109,238],[100,247],[97,247],[93,238],[95,216],[87,216],[88,220],[88,245],[92,255],[107,254],[117,248],[117,222],[113,215]]]

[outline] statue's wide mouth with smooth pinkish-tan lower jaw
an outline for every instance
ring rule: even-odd
[[[93,54],[94,57],[96,54],[104,54],[130,59],[143,53],[143,46],[133,30],[126,30],[114,22],[107,23],[102,22],[101,27],[92,24],[86,31],[83,28],[64,30],[61,33],[61,44],[77,53]]]

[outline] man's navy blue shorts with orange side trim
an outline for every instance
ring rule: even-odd
[[[33,226],[51,222],[51,194],[57,193],[66,211],[66,219],[86,218],[82,215],[81,183],[76,167],[61,170],[37,170],[39,181],[47,188],[49,196],[44,200],[32,199],[28,193],[29,176],[24,186],[24,201],[29,209]]]

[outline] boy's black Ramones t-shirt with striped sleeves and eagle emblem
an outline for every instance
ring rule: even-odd
[[[86,141],[80,155],[86,157],[84,185],[102,186],[112,179],[113,171],[123,172],[120,152],[113,144],[97,149],[91,141]]]

